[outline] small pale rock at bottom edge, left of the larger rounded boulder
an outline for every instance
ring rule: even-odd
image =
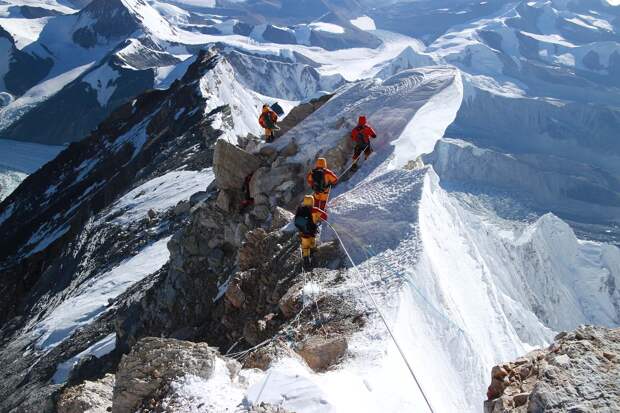
[[[58,399],[58,413],[106,413],[112,408],[114,376],[66,388]]]

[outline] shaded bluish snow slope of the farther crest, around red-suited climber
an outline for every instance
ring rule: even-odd
[[[456,97],[455,103],[458,104],[459,82],[457,70],[437,67],[401,72],[385,81],[373,79],[343,86],[317,113],[297,125],[282,139],[276,140],[274,146],[282,149],[294,139],[300,149],[291,158],[291,162],[310,163],[318,154],[325,154],[327,148],[337,146],[343,137],[348,136],[358,116],[367,115],[369,123],[379,131],[379,137],[374,143],[377,154],[369,162],[377,167],[391,154],[390,148],[386,147],[397,142],[404,131],[411,127],[414,115],[429,104],[434,96],[446,91]],[[448,106],[447,112],[454,108]],[[438,116],[437,119],[440,118]],[[438,128],[447,127],[449,118],[446,116],[443,120],[447,123]],[[441,133],[434,138],[440,137]],[[432,139],[430,135],[429,139]],[[434,142],[431,147],[432,144]]]

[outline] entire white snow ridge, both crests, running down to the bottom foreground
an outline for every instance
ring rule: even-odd
[[[296,139],[295,161],[310,162],[346,133],[334,119],[368,113],[381,131],[375,155],[329,207],[357,266],[340,288],[359,291],[374,316],[335,370],[316,374],[285,359],[240,381],[225,372],[184,378],[173,385],[183,411],[207,411],[214,399],[204,395],[214,388],[226,394],[217,398],[220,410],[268,402],[302,413],[428,411],[365,285],[435,412],[481,411],[491,367],[546,345],[557,331],[618,325],[617,247],[578,239],[552,214],[502,218],[476,195],[444,189],[431,166],[415,162],[443,138],[462,99],[455,68],[405,71],[344,87],[276,141]],[[324,239],[334,236],[323,230]]]

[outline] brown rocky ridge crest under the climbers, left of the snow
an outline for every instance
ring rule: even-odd
[[[294,127],[295,121],[305,119],[326,101],[302,105],[285,124]],[[276,149],[249,137],[242,140],[242,146],[223,139],[217,142],[214,183],[192,197],[189,222],[169,242],[169,265],[118,300],[115,354],[129,356],[123,356],[118,369],[115,363],[99,367],[99,375],[116,370],[112,411],[164,411],[163,406],[174,406],[172,383],[192,375],[191,369],[178,364],[179,360],[184,363],[184,348],[192,349],[194,356],[189,359],[209,358],[215,351],[210,349],[222,353],[228,349],[225,353],[233,359],[222,360],[237,366],[235,371],[267,369],[281,357],[301,358],[310,368],[325,371],[346,356],[347,336],[364,324],[364,310],[352,293],[334,289],[342,282],[345,267],[337,244],[319,247],[314,270],[305,272],[300,266],[299,242],[295,231],[287,228],[292,214],[283,208],[294,206],[305,191],[307,165],[287,164],[297,154],[294,142]],[[334,157],[342,148],[347,147],[338,143],[330,155]],[[242,186],[248,176],[252,176],[249,189],[255,201],[241,208],[239,201],[246,196]],[[315,290],[306,291],[307,283],[315,285]],[[170,339],[154,344],[159,339],[152,336]],[[131,363],[149,364],[136,362],[135,357],[143,361],[167,358],[152,357],[152,351],[168,352],[152,346],[180,351],[182,356],[171,356],[173,362],[153,367],[156,380],[144,372],[149,377],[145,380],[139,377],[142,370]],[[92,388],[102,385],[96,374],[87,376],[88,370],[76,369],[72,386],[60,397],[64,405],[92,399]],[[209,369],[199,370],[194,376],[208,380]],[[131,383],[148,385],[135,388]],[[282,410],[248,405],[244,411]]]

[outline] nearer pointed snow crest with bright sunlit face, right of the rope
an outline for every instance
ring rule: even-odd
[[[332,201],[330,220],[436,411],[478,411],[489,369],[554,331],[620,323],[618,248],[579,241],[552,215],[527,224],[481,212],[443,190],[432,170],[375,173]],[[369,363],[363,349],[382,346],[386,354]],[[393,401],[386,410],[423,410],[391,342],[352,351],[372,397]]]

